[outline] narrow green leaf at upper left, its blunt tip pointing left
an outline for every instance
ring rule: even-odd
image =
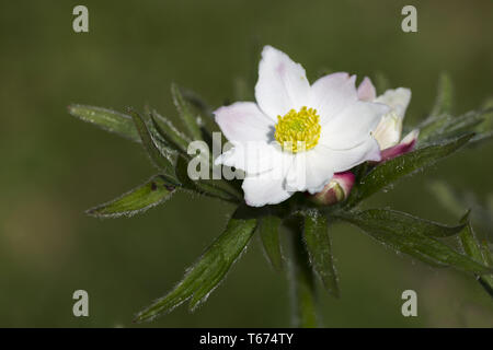
[[[70,115],[100,128],[117,133],[129,140],[140,142],[139,133],[130,116],[112,109],[72,104],[68,106]]]

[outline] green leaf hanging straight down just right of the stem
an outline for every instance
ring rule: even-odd
[[[328,292],[339,298],[339,283],[328,234],[328,220],[318,210],[309,210],[305,215],[305,242],[313,269],[322,279]]]

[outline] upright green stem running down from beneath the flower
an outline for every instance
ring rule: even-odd
[[[290,231],[293,250],[289,264],[293,323],[295,327],[314,328],[318,326],[314,276],[305,247],[301,223],[297,220],[287,228]]]

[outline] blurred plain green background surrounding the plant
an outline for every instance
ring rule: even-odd
[[[72,8],[89,8],[90,32],[72,31]],[[401,9],[417,8],[417,33]],[[153,174],[144,151],[81,122],[67,105],[141,108],[173,120],[170,83],[213,106],[233,101],[234,81],[257,63],[254,43],[301,62],[359,77],[383,72],[412,89],[408,125],[429,110],[440,71],[456,109],[493,95],[490,1],[2,1],[0,3],[0,326],[134,327],[133,315],[169,291],[216,237],[233,209],[179,194],[131,219],[83,214]],[[402,180],[368,206],[447,223],[432,178],[479,196],[493,191],[493,142]],[[319,294],[325,326],[492,327],[493,302],[471,276],[397,256],[355,228],[333,229],[342,298]],[[286,277],[267,266],[259,237],[198,311],[179,307],[144,326],[290,325]],[[90,316],[72,315],[72,293]],[[401,293],[419,295],[419,317],[401,315]]]

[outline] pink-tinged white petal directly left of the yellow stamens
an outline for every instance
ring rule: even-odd
[[[232,142],[268,142],[274,122],[253,102],[237,102],[214,112],[216,122],[225,137]]]

